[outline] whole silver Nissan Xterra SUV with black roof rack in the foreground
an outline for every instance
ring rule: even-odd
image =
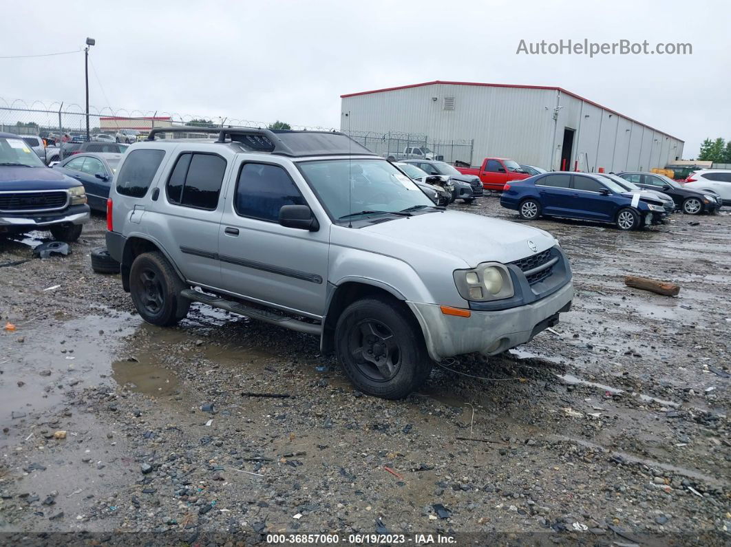
[[[151,324],[192,302],[320,337],[357,389],[404,397],[433,362],[531,340],[573,296],[548,232],[436,207],[345,134],[216,129],[124,154],[107,248]],[[212,129],[205,129],[212,132]],[[452,245],[454,234],[480,243]]]

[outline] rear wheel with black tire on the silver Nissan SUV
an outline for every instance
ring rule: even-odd
[[[143,253],[132,262],[129,294],[148,323],[170,326],[188,315],[190,300],[181,297],[183,288],[187,286],[162,253]]]

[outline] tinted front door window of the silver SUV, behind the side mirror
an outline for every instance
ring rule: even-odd
[[[236,213],[279,222],[283,205],[306,205],[294,181],[277,165],[244,164],[236,185]]]

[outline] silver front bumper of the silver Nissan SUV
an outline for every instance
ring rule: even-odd
[[[498,311],[474,311],[469,317],[444,315],[439,305],[406,302],[419,321],[431,359],[479,352],[496,355],[528,342],[556,324],[558,313],[571,308],[571,280],[558,291],[531,304]]]

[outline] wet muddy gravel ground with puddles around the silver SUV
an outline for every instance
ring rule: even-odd
[[[517,220],[494,196],[455,208]],[[118,276],[91,271],[103,218],[69,256],[0,267],[0,327],[15,324],[0,332],[0,531],[728,544],[731,215],[533,224],[567,250],[573,310],[503,356],[442,363],[401,401],[354,391],[313,337],[197,305],[178,327],[144,324]],[[38,237],[0,242],[0,264]]]

